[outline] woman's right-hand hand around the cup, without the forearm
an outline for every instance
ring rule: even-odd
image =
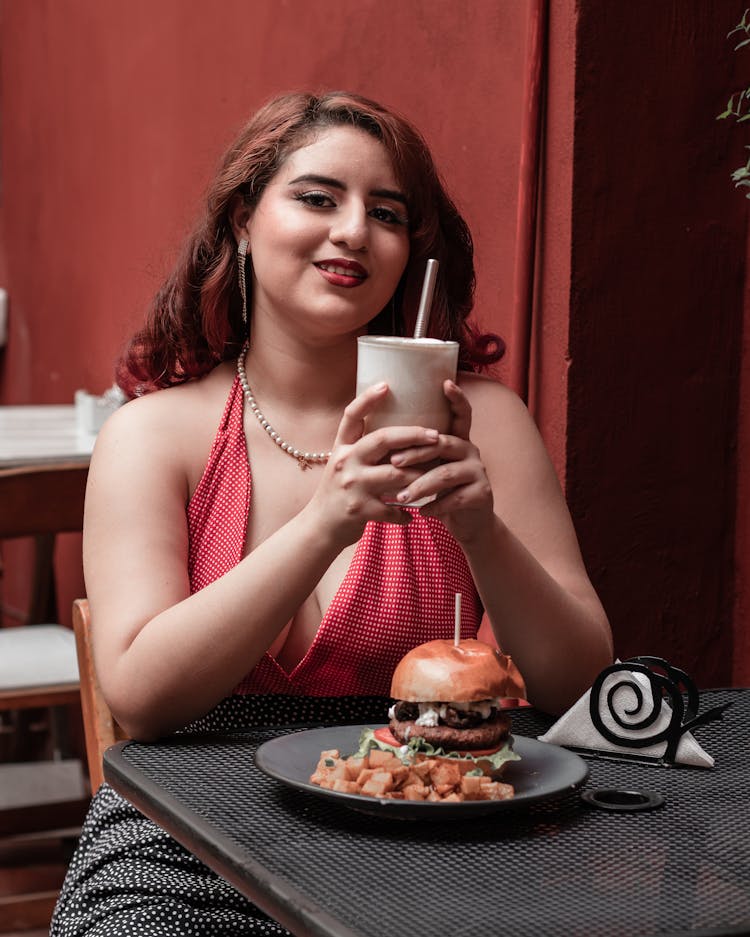
[[[435,495],[434,501],[421,508],[428,517],[439,517],[459,543],[468,543],[482,530],[494,514],[492,486],[479,455],[471,442],[471,405],[453,381],[443,385],[451,406],[451,432],[441,435],[437,445],[429,449],[417,447],[391,456],[391,464],[400,469],[411,468],[428,459],[440,462],[420,473],[398,492],[402,504]]]

